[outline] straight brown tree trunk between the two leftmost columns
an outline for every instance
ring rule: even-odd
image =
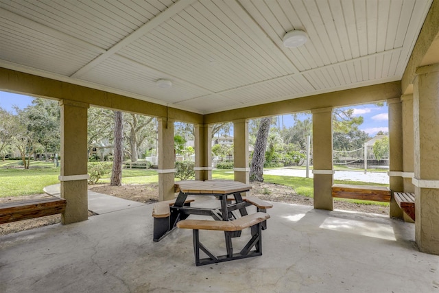
[[[114,149],[114,161],[112,162],[110,186],[120,186],[122,184],[122,161],[123,161],[123,117],[121,111],[115,111],[115,149]]]

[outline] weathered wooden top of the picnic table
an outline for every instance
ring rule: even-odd
[[[175,185],[185,194],[233,194],[252,189],[251,185],[232,180],[184,180]]]

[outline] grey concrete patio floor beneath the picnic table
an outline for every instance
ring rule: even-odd
[[[0,292],[439,292],[439,256],[418,251],[414,224],[277,202],[268,212],[261,257],[200,267],[190,230],[152,241],[152,204],[5,235]],[[219,231],[200,239],[225,251]]]

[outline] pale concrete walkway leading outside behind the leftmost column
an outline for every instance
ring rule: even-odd
[[[51,196],[61,195],[60,184],[49,185],[44,187],[44,192]],[[106,194],[98,194],[95,191],[88,190],[88,211],[97,215],[103,213],[112,213],[113,211],[121,211],[123,209],[131,209],[133,207],[141,207],[145,204],[141,202],[134,202],[132,200],[124,200],[115,196],[108,196]]]

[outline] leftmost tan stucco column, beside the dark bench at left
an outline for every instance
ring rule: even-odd
[[[89,105],[62,99],[61,197],[67,200],[62,224],[88,219],[87,110]]]

